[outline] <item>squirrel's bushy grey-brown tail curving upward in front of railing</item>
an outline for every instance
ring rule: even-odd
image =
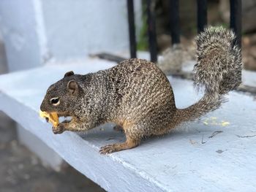
[[[194,84],[204,88],[200,101],[186,109],[177,110],[181,121],[195,120],[217,110],[225,102],[225,94],[241,83],[241,50],[233,31],[208,27],[196,38],[197,64]]]

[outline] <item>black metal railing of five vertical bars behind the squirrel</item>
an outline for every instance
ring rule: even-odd
[[[129,18],[130,57],[136,58],[135,20],[133,0],[127,0]],[[146,0],[148,23],[148,45],[151,61],[157,61],[157,33],[154,15],[154,0]],[[197,32],[207,26],[207,0],[197,0]],[[170,35],[172,45],[180,43],[178,0],[170,0]],[[230,0],[230,28],[236,34],[236,43],[241,47],[241,0]]]

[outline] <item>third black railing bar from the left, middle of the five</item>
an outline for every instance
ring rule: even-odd
[[[172,37],[172,45],[181,42],[178,14],[178,0],[170,0],[170,35]]]

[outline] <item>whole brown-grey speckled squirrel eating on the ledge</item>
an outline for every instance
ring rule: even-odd
[[[54,134],[116,123],[126,141],[101,147],[100,153],[137,147],[141,139],[167,134],[226,101],[225,94],[241,83],[241,50],[235,39],[233,31],[222,27],[208,27],[198,34],[194,83],[205,93],[185,109],[176,107],[170,82],[156,64],[132,58],[95,73],[67,72],[50,85],[40,110],[72,117],[53,127]]]

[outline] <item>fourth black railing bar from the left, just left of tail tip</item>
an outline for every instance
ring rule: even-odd
[[[207,0],[197,0],[197,33],[207,26]]]

